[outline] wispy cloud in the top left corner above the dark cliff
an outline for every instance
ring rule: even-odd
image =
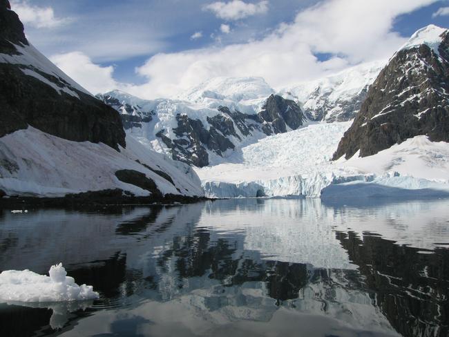
[[[11,6],[23,23],[36,28],[53,28],[69,21],[55,17],[55,11],[51,7],[32,6],[26,0],[11,1]]]

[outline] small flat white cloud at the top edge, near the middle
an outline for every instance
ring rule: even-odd
[[[245,3],[241,0],[217,1],[204,6],[204,10],[210,10],[220,19],[240,20],[252,15],[265,14],[268,11],[268,1],[264,0],[259,3]]]

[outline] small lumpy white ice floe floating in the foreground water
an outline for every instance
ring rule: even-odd
[[[90,285],[77,285],[59,263],[50,268],[50,277],[32,271],[0,273],[0,302],[60,302],[94,300],[99,294]]]

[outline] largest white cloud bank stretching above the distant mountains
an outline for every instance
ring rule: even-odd
[[[116,88],[154,99],[175,97],[187,88],[217,76],[259,76],[274,88],[294,85],[359,62],[387,59],[406,41],[392,31],[394,19],[436,1],[324,1],[298,13],[294,23],[283,24],[260,40],[159,53],[136,70],[148,79],[146,84],[116,84]],[[314,56],[318,52],[338,56],[323,62]],[[70,66],[70,62],[67,64]],[[82,68],[73,66],[73,71],[82,71]],[[63,70],[68,72],[64,67]],[[99,88],[103,82],[108,88],[113,86],[113,69],[104,70],[95,68],[105,76],[104,81],[96,85],[95,75],[78,77],[68,73],[93,90],[91,87]],[[90,80],[94,83],[90,84]]]

